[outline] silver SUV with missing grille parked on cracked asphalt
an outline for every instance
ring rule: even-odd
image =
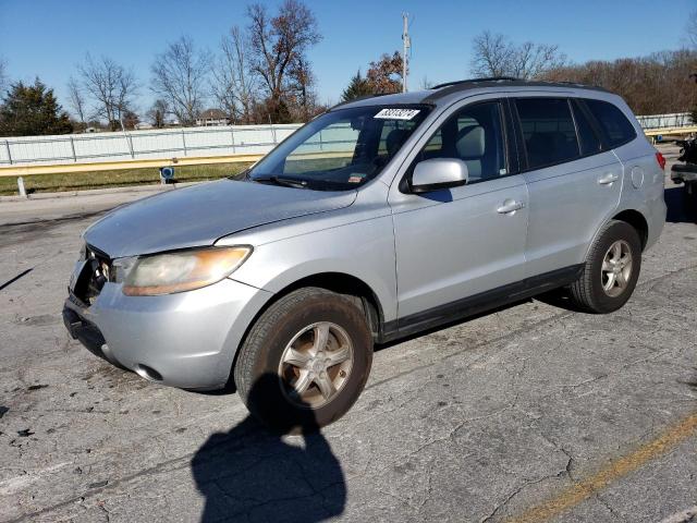
[[[322,426],[375,343],[554,288],[617,309],[664,219],[663,159],[620,97],[453,82],[337,106],[244,180],[108,214],[63,316],[146,379],[234,384],[269,425]]]

